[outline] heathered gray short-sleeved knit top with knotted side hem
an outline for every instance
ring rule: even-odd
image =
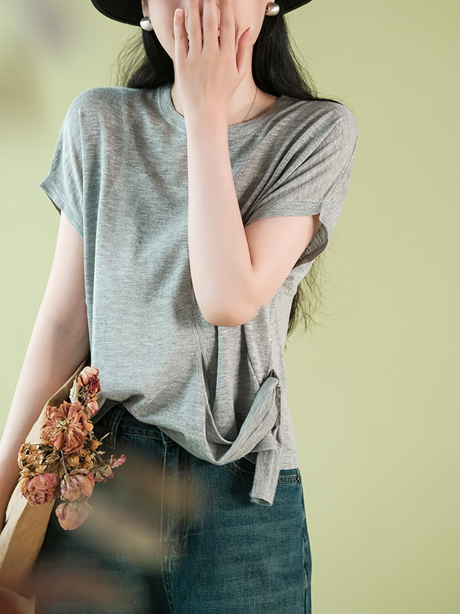
[[[284,361],[291,301],[339,218],[358,126],[345,106],[288,96],[228,126],[243,224],[319,212],[323,225],[255,318],[217,327],[191,283],[186,128],[170,91],[83,91],[40,188],[84,239],[99,406],[123,402],[205,461],[245,456],[250,499],[272,505],[280,469],[299,466]]]

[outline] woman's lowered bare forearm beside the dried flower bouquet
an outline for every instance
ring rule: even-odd
[[[19,478],[17,456],[21,445],[47,400],[89,351],[87,337],[75,338],[67,328],[50,324],[45,312],[39,311],[0,440],[0,515]]]

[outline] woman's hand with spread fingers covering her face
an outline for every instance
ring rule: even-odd
[[[188,0],[188,33],[183,9],[174,13],[175,80],[185,117],[210,108],[227,115],[229,101],[251,70],[251,28],[235,41],[232,0],[221,0],[220,6],[219,25],[216,1],[204,0],[202,29],[199,0]]]

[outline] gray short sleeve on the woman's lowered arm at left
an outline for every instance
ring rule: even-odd
[[[75,99],[67,109],[47,176],[39,187],[64,211],[83,237],[83,164],[80,131],[80,105]]]

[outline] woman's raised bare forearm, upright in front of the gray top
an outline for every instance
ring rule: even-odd
[[[251,257],[228,149],[228,124],[215,109],[185,116],[188,248],[193,289],[212,324],[236,326],[257,314]]]

